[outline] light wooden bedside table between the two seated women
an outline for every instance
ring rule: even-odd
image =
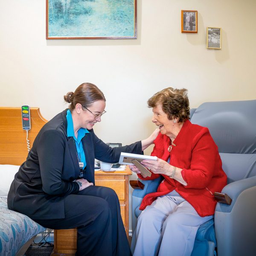
[[[129,175],[131,170],[126,166],[125,171],[95,171],[95,185],[106,186],[115,190],[118,195],[122,220],[126,235],[129,233]],[[76,229],[54,230],[54,255],[73,256],[76,253]]]

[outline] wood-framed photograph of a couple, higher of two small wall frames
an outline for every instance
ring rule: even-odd
[[[181,10],[181,32],[197,33],[197,11]]]

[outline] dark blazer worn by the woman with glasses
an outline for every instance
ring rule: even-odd
[[[8,208],[32,219],[65,218],[64,197],[77,194],[73,182],[79,161],[73,137],[67,137],[67,110],[51,119],[35,138],[26,161],[15,175],[8,194]],[[116,163],[121,152],[143,154],[141,142],[111,148],[92,130],[82,139],[86,158],[84,179],[94,181],[94,159]]]

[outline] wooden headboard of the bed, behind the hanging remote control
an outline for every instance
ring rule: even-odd
[[[47,120],[39,108],[30,108],[31,129],[28,140],[32,148],[35,137]],[[22,164],[28,155],[26,131],[22,129],[21,107],[0,107],[0,164]]]

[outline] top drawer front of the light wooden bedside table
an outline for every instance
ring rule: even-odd
[[[125,201],[125,180],[95,180],[95,185],[113,189],[118,199]]]

